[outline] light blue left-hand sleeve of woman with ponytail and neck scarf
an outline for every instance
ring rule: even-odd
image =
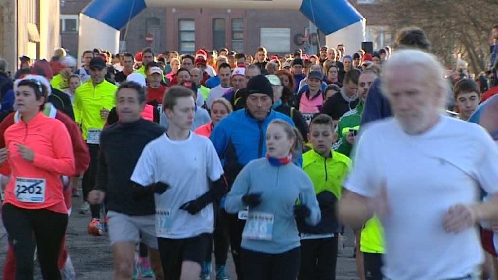
[[[248,194],[249,185],[249,168],[248,165],[246,165],[244,168],[242,168],[239,176],[237,176],[237,179],[235,179],[232,189],[225,198],[225,210],[227,211],[227,213],[235,214],[239,211],[244,210],[245,205],[242,202],[242,197]]]

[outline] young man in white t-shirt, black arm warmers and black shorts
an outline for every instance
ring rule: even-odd
[[[212,202],[221,199],[228,185],[211,141],[189,130],[195,111],[193,92],[183,86],[170,87],[163,108],[168,130],[145,146],[131,180],[138,191],[155,193],[156,235],[164,275],[173,280],[198,280],[214,231]],[[154,191],[156,182],[170,187],[160,194]]]

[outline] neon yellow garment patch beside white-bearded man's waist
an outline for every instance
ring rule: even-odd
[[[365,253],[384,253],[384,231],[376,215],[365,223],[360,241],[360,251]]]

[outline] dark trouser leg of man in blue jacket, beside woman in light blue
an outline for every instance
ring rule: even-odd
[[[234,259],[235,271],[237,272],[238,280],[245,280],[242,273],[242,262],[241,262],[241,243],[242,243],[242,232],[244,231],[244,226],[246,225],[246,220],[239,219],[238,214],[228,214],[224,212],[225,222],[228,227],[228,235],[230,239],[230,249],[232,250],[232,257]]]

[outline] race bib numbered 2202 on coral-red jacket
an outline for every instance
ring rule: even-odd
[[[17,177],[14,193],[20,202],[45,202],[45,179]]]

